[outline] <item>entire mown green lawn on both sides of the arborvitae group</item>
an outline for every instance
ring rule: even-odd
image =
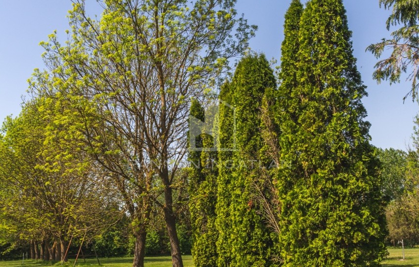
[[[386,260],[382,262],[382,267],[419,267],[419,248],[407,248],[405,249],[405,260],[403,261],[403,252],[401,248],[389,248],[388,252],[390,255]],[[182,256],[183,264],[185,267],[194,267],[192,262],[192,256]],[[100,258],[101,267],[131,267],[132,258]],[[162,257],[146,257],[145,267],[170,267],[171,261],[170,256]],[[73,267],[74,260],[70,260],[69,263],[65,264],[65,267]],[[22,261],[0,261],[0,267],[49,267],[50,264],[46,264],[40,261],[25,260],[25,264],[22,265]],[[60,267],[61,263],[56,263],[54,267]],[[77,262],[78,267],[99,267],[96,259],[86,259],[84,263],[83,259],[79,259]]]

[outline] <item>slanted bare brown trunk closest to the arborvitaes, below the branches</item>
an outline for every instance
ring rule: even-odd
[[[165,221],[170,240],[171,261],[173,267],[183,267],[182,254],[180,252],[179,238],[176,231],[176,218],[173,213],[173,196],[169,181],[168,169],[164,168],[162,172],[162,181],[165,185]]]

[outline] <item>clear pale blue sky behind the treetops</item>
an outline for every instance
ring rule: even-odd
[[[86,0],[90,15],[99,14],[94,0]],[[304,1],[304,0],[302,0]],[[284,13],[291,0],[238,0],[238,13],[244,13],[250,24],[259,26],[251,48],[267,58],[280,59]],[[369,97],[363,100],[372,127],[372,143],[382,148],[406,149],[413,132],[418,104],[403,97],[410,82],[389,86],[377,85],[372,79],[376,59],[365,48],[389,36],[385,21],[389,11],[380,9],[378,0],[344,0],[353,32],[354,55],[358,69],[368,86]],[[20,112],[21,96],[26,95],[27,79],[34,68],[43,68],[42,47],[53,30],[61,39],[68,29],[67,10],[70,0],[0,0],[0,120]]]

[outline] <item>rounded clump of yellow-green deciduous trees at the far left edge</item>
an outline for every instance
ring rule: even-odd
[[[31,244],[34,258],[63,260],[69,236],[99,233],[114,210],[105,211],[111,199],[88,178],[93,166],[75,139],[64,135],[42,109],[54,104],[30,101],[19,117],[3,124],[0,206],[2,229],[11,226],[6,236]],[[64,153],[64,147],[71,149]],[[41,252],[36,256],[32,248],[38,243]]]

